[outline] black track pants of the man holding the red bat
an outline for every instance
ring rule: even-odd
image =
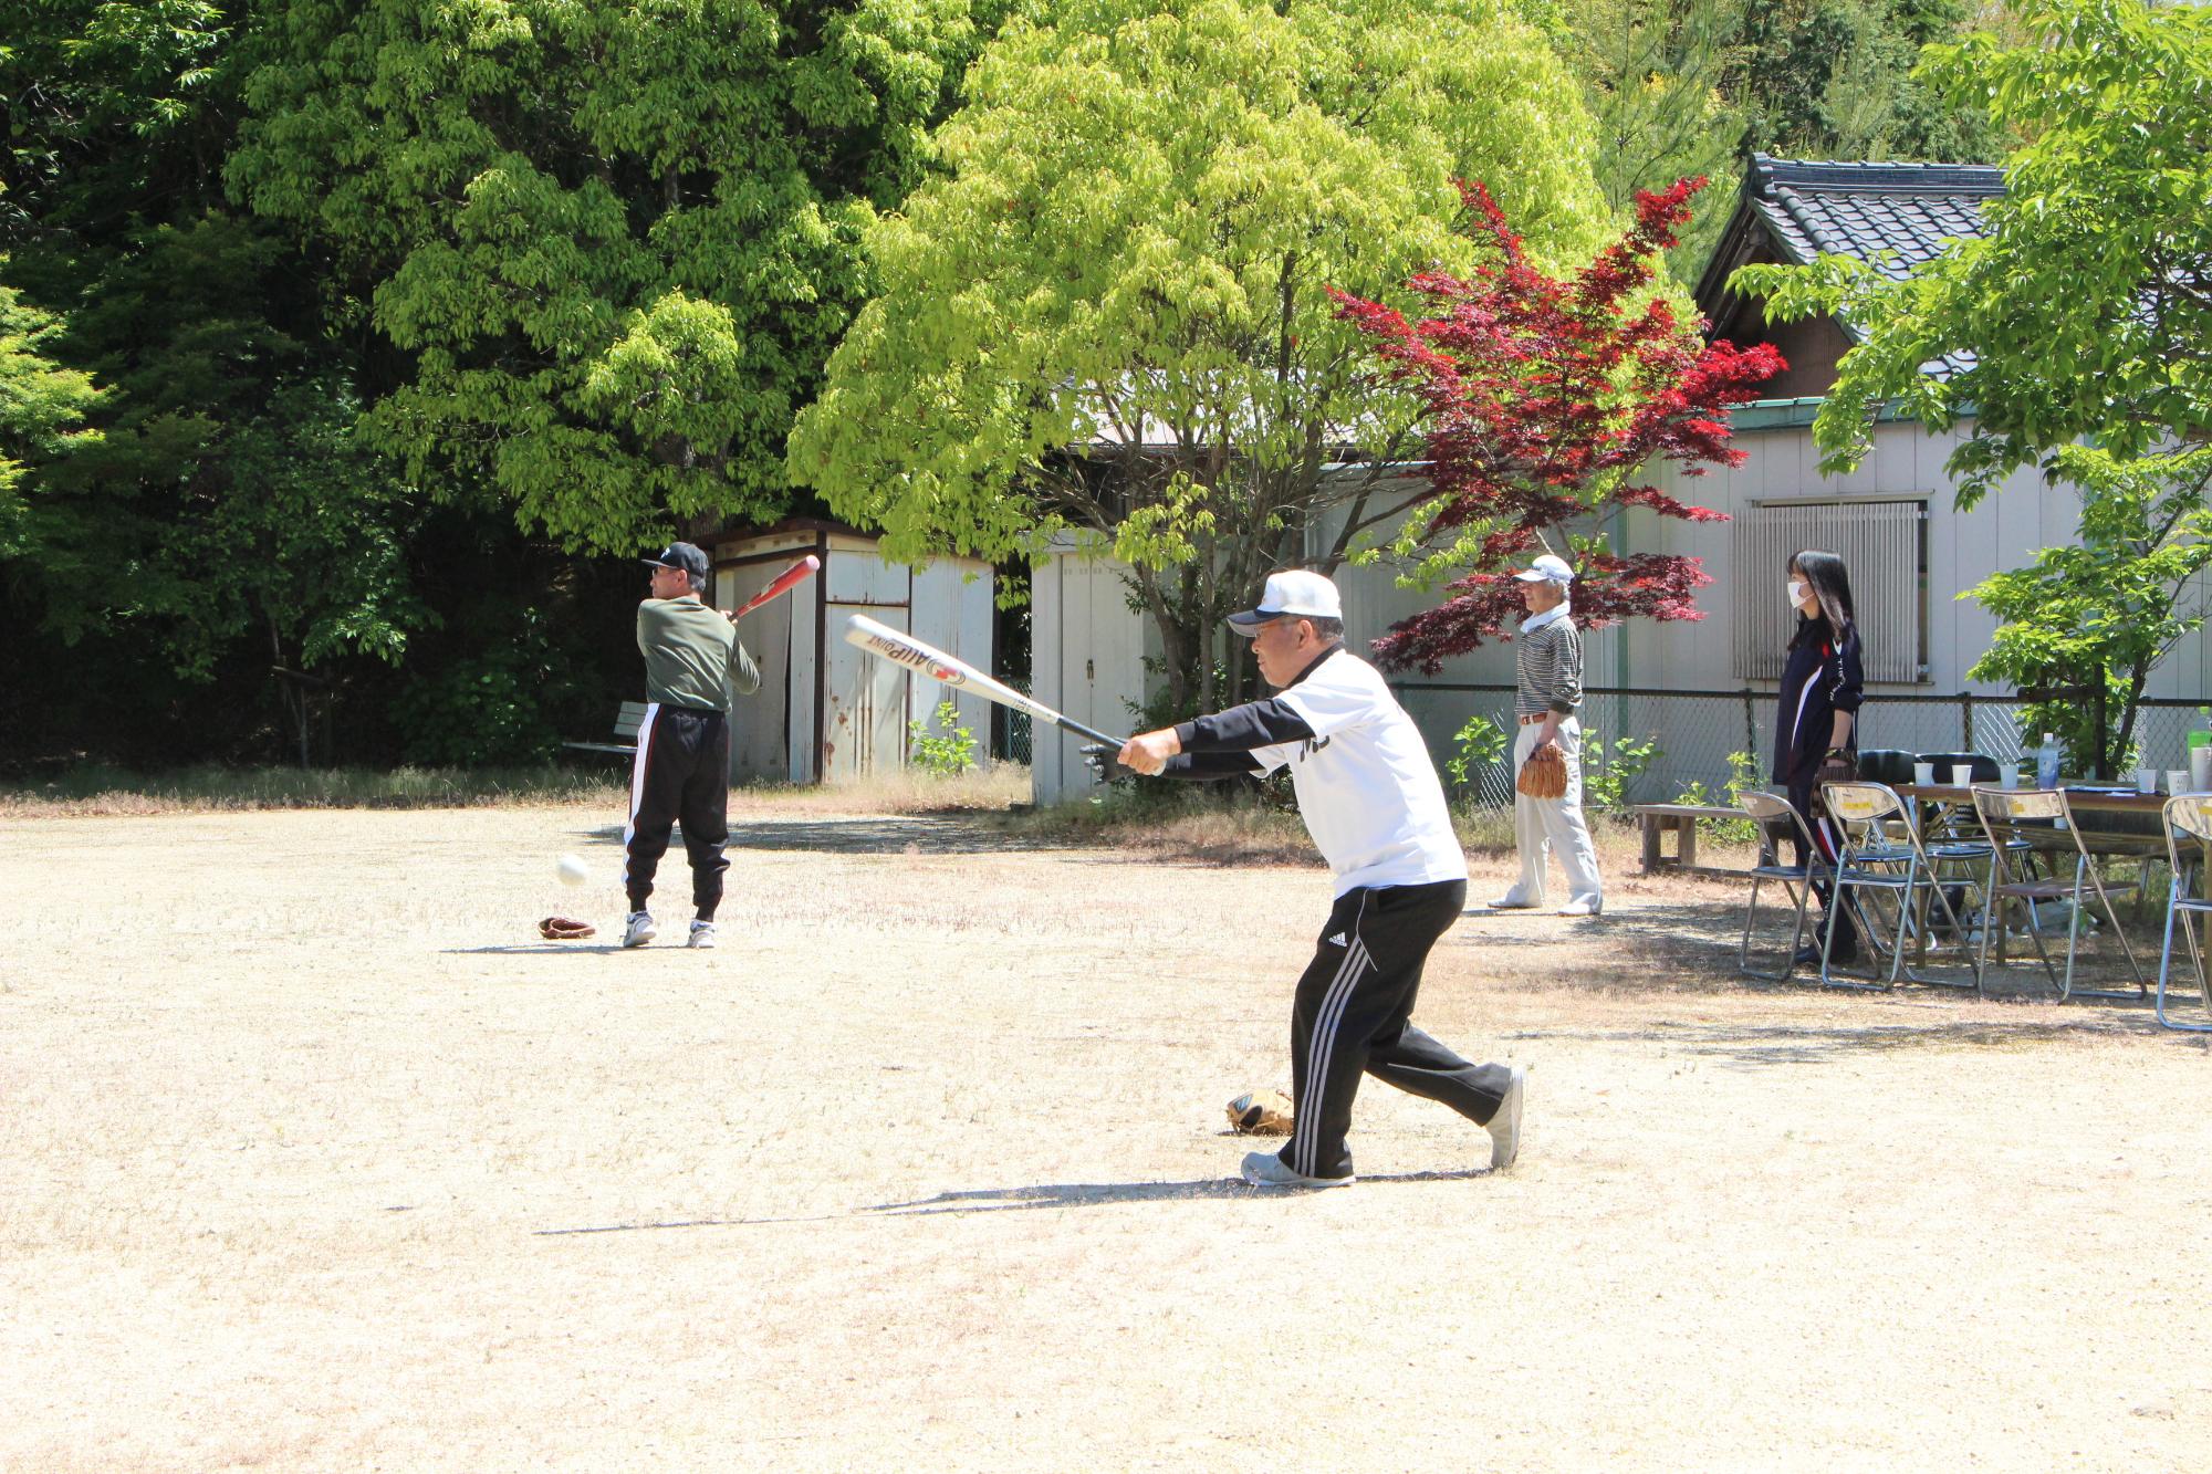
[[[699,921],[714,921],[721,872],[730,868],[721,852],[730,839],[730,719],[719,710],[653,704],[637,728],[630,823],[622,832],[622,885],[633,912],[646,910],[672,823],[684,826]]]

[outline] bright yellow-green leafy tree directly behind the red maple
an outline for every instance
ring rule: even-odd
[[[896,558],[1113,547],[1183,710],[1239,691],[1221,615],[1267,567],[1402,505],[1325,476],[1413,412],[1325,288],[1467,266],[1455,177],[1537,259],[1610,224],[1588,115],[1500,0],[1079,0],[1011,22],[933,142],[792,476]]]

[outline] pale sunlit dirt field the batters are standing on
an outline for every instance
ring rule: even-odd
[[[745,819],[630,954],[586,808],[0,823],[0,1465],[2212,1467],[2148,1009],[1752,989],[1617,881],[1431,963],[1515,1171],[1369,1084],[1261,1195],[1318,868]]]

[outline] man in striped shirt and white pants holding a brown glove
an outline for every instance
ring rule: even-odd
[[[1520,777],[1528,755],[1555,744],[1566,755],[1566,792],[1557,799],[1531,799],[1513,792],[1513,839],[1520,848],[1522,874],[1513,887],[1491,901],[1498,910],[1533,910],[1544,905],[1544,854],[1559,857],[1566,870],[1566,905],[1562,916],[1595,916],[1604,910],[1604,885],[1597,881],[1597,845],[1590,826],[1582,821],[1582,635],[1568,613],[1566,589],[1575,571],[1564,558],[1544,553],[1515,573],[1528,617],[1522,620],[1515,662],[1513,715],[1520,737],[1513,744],[1513,775]]]

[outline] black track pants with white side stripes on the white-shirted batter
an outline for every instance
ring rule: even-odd
[[[1482,1124],[1511,1071],[1469,1065],[1416,1029],[1413,996],[1429,947],[1467,905],[1467,881],[1349,890],[1329,907],[1290,1023],[1296,1131],[1283,1164],[1305,1177],[1352,1175],[1352,1098],[1360,1073],[1440,1100]]]

